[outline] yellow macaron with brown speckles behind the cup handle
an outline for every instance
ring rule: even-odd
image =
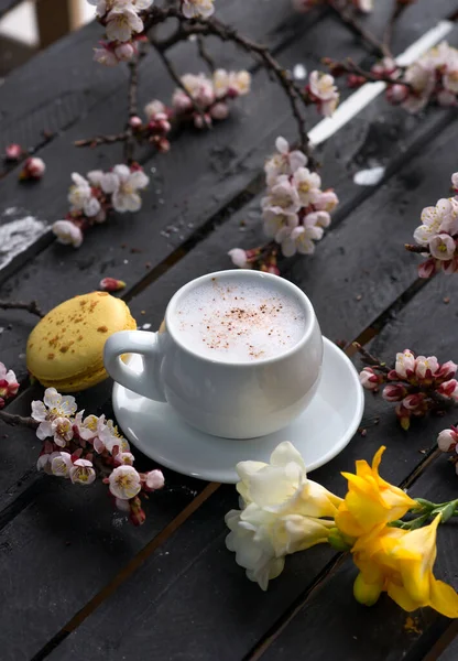
[[[107,338],[135,328],[135,319],[120,299],[107,292],[75,296],[47,313],[30,334],[28,369],[45,388],[85,390],[108,378],[103,367]]]

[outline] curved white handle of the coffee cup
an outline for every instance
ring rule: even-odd
[[[165,402],[161,379],[162,353],[157,333],[146,330],[121,330],[111,335],[103,349],[105,367],[117,381],[128,390],[133,390],[148,399]],[[143,371],[137,372],[122,360],[123,354],[140,354]]]

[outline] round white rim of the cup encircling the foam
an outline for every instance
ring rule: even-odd
[[[207,280],[211,280],[212,278],[221,278],[221,277],[229,277],[229,278],[237,278],[239,274],[243,274],[243,275],[248,275],[249,278],[262,278],[262,279],[275,279],[275,282],[281,282],[281,286],[284,286],[287,290],[291,290],[295,296],[297,296],[302,304],[304,305],[306,313],[307,313],[307,322],[306,322],[306,328],[304,330],[304,335],[301,337],[301,339],[292,347],[290,347],[288,349],[286,349],[284,353],[279,354],[277,356],[272,356],[270,358],[260,358],[258,360],[252,360],[252,361],[248,361],[248,360],[223,360],[220,358],[209,358],[208,356],[203,356],[201,354],[199,354],[198,351],[193,350],[192,348],[189,348],[187,345],[185,345],[178,337],[177,334],[174,333],[174,312],[176,310],[176,305],[178,300],[186,294],[187,291],[189,291],[190,289],[193,289],[194,286],[196,286],[196,284],[200,283],[200,282],[205,282]],[[167,308],[165,311],[165,326],[167,329],[167,333],[172,336],[173,340],[175,344],[177,344],[179,346],[181,349],[183,349],[185,353],[192,355],[194,358],[198,358],[200,360],[203,360],[204,362],[210,362],[212,365],[221,365],[225,367],[237,367],[237,368],[253,368],[253,367],[258,367],[258,366],[262,366],[262,365],[271,365],[274,362],[279,362],[281,360],[284,360],[285,358],[287,358],[288,356],[292,356],[293,354],[295,354],[299,348],[302,348],[305,344],[307,344],[307,342],[309,340],[312,333],[314,330],[314,322],[316,322],[316,314],[315,314],[315,310],[314,306],[310,303],[310,300],[308,299],[308,296],[306,296],[306,294],[294,283],[290,282],[288,280],[284,280],[281,275],[275,275],[273,273],[264,273],[262,271],[254,271],[251,269],[227,269],[225,271],[216,271],[214,273],[206,273],[204,275],[200,275],[199,278],[195,278],[194,280],[190,280],[189,282],[187,282],[186,284],[184,284],[177,292],[175,292],[175,294],[172,296]]]

